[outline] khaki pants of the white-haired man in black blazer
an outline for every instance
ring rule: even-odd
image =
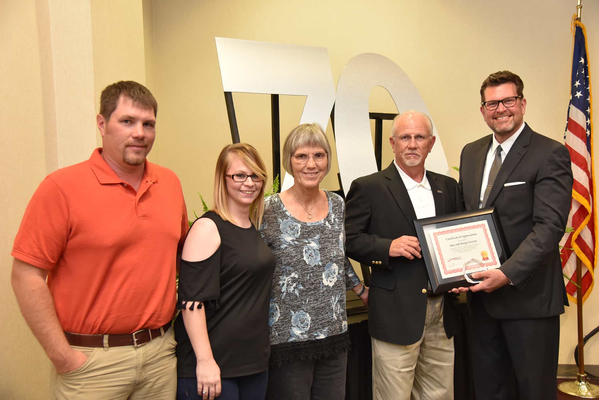
[[[443,328],[443,296],[428,299],[418,342],[371,340],[373,400],[453,399],[453,338],[447,339]]]

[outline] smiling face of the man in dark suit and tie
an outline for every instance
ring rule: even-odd
[[[485,89],[485,101],[503,100],[507,97],[518,96],[516,85],[512,82],[502,83],[498,86],[488,86]],[[485,122],[494,132],[495,138],[504,140],[512,136],[522,126],[523,116],[526,111],[526,99],[517,99],[516,105],[506,107],[501,102],[495,110],[487,110],[484,105],[480,106]]]

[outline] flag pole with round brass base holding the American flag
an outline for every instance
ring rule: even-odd
[[[582,13],[582,0],[578,0],[576,5],[576,20],[580,22]],[[578,322],[578,374],[575,381],[566,381],[558,384],[558,390],[568,395],[582,397],[586,399],[599,398],[599,389],[588,383],[585,373],[585,344],[584,333],[582,329],[582,261],[576,256],[576,314]]]

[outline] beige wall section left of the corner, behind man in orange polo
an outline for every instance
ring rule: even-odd
[[[74,163],[91,154],[102,88],[120,79],[144,83],[142,4],[8,0],[0,2],[0,15],[5,19],[0,24],[5,83],[0,85],[0,320],[7,327],[0,352],[0,399],[41,399],[47,398],[50,362],[10,287],[14,235],[44,176],[65,159]]]

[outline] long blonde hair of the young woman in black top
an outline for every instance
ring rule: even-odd
[[[260,228],[262,223],[262,215],[264,214],[264,187],[268,175],[266,173],[266,166],[262,157],[258,154],[251,144],[247,143],[235,143],[229,144],[223,147],[220,151],[219,158],[216,161],[216,171],[214,171],[214,208],[213,211],[219,216],[229,222],[233,222],[231,211],[229,210],[229,192],[226,190],[226,171],[231,165],[229,160],[229,154],[235,154],[238,156],[244,164],[247,165],[254,174],[258,175],[262,179],[262,187],[258,197],[250,205],[250,221],[253,223],[256,229]]]

